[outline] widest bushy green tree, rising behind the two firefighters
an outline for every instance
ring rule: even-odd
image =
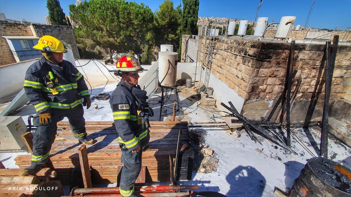
[[[90,0],[69,5],[69,14],[78,25],[74,31],[78,43],[92,41],[106,49],[110,57],[113,53],[129,53],[137,54],[143,63],[150,61],[153,13],[143,3]]]

